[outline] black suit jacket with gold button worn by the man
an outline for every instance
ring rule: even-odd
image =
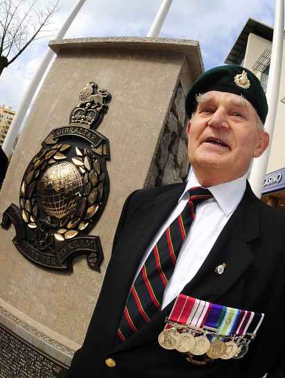
[[[285,377],[285,215],[257,199],[249,184],[209,256],[182,290],[185,295],[210,302],[264,312],[264,322],[248,354],[243,359],[219,359],[200,367],[188,363],[180,352],[162,349],[157,336],[174,301],[137,334],[116,346],[116,331],[137,267],[150,240],[177,204],[184,185],[137,190],[126,200],[85,342],[65,377],[261,378],[266,372],[268,377]],[[227,268],[218,277],[214,270],[221,263]],[[107,368],[107,358],[116,361],[115,368]]]

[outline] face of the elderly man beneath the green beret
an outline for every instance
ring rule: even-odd
[[[258,129],[257,113],[249,101],[218,91],[205,94],[187,125],[187,135],[194,171],[218,174],[221,183],[243,176],[269,140],[268,133]]]

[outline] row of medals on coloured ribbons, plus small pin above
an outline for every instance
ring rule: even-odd
[[[264,313],[234,309],[180,294],[166,318],[167,324],[159,334],[158,342],[164,349],[187,354],[187,361],[195,365],[205,365],[219,358],[241,359],[263,320]]]

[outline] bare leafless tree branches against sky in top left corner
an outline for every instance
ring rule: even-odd
[[[0,0],[0,75],[42,33],[58,10],[58,2],[37,8],[37,0]]]

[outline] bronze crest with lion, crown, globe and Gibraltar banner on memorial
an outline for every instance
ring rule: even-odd
[[[53,129],[28,164],[19,207],[11,204],[3,213],[1,227],[14,224],[13,243],[38,265],[72,270],[71,258],[87,254],[89,268],[100,272],[101,241],[88,233],[101,217],[110,190],[109,140],[96,131],[110,99],[96,83],[85,85],[69,125]]]

